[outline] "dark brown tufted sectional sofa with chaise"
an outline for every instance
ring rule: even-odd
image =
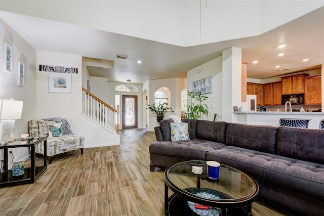
[[[215,160],[251,175],[259,194],[310,215],[324,209],[324,130],[182,119],[189,141],[171,141],[170,122],[155,127],[151,171],[185,160]]]

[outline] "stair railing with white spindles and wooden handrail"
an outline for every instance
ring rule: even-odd
[[[111,107],[92,93],[82,88],[83,107],[82,113],[107,130],[119,134],[119,106]]]

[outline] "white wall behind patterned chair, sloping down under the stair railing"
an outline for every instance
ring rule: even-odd
[[[36,65],[77,67],[72,74],[72,93],[48,92],[49,72],[37,71],[36,110],[37,119],[49,117],[67,118],[72,132],[85,137],[85,148],[116,145],[119,140],[104,128],[82,116],[82,56],[48,51],[37,51]],[[85,87],[87,88],[87,87]],[[119,137],[119,136],[117,136]]]

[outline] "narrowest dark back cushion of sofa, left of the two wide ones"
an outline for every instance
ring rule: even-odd
[[[197,122],[196,138],[218,143],[225,143],[227,122],[199,120]]]

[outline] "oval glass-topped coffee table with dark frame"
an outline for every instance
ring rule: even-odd
[[[192,166],[203,166],[194,174]],[[252,215],[258,183],[249,175],[221,164],[218,180],[207,177],[206,161],[183,161],[165,170],[166,215]],[[174,192],[169,197],[169,188]]]

